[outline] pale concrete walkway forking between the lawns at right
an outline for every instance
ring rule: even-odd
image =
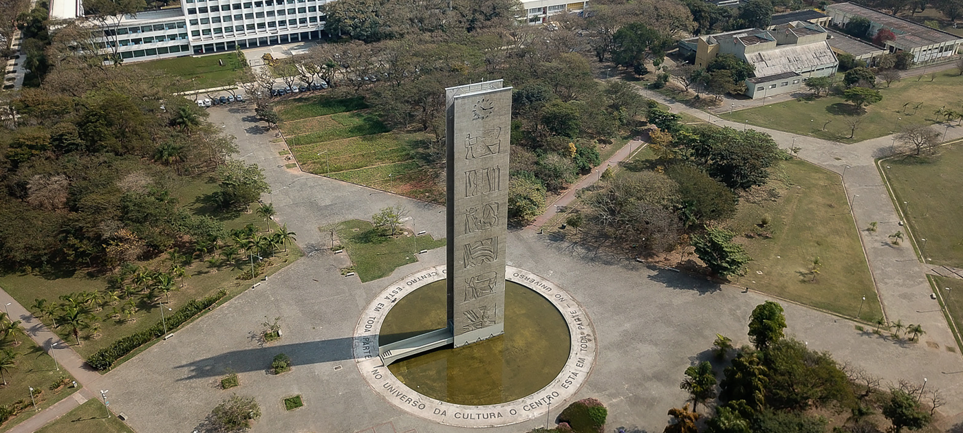
[[[639,91],[646,97],[669,106],[673,113],[687,113],[700,118],[706,116],[705,112],[669,100],[659,93],[647,89]],[[712,121],[719,126],[745,128],[742,123],[715,116]],[[793,145],[799,147],[801,150],[798,156],[801,159],[840,173],[856,226],[860,228],[860,240],[870,263],[884,315],[889,320],[901,319],[904,323],[923,325],[926,341],[946,347],[955,346],[955,339],[939,304],[930,298],[932,290],[912,245],[907,242],[894,246],[887,238],[897,231],[907,231],[901,224],[889,191],[875,166],[876,158],[890,153],[894,142],[892,136],[843,144],[757,126],[750,127],[768,133],[782,148]],[[963,127],[949,128],[947,140],[961,137]],[[877,231],[864,230],[872,221],[877,222]],[[912,242],[912,237],[909,242]]]

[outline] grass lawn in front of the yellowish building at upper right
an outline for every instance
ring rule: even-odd
[[[917,77],[910,77],[893,82],[888,89],[885,83],[877,85],[876,89],[882,93],[883,100],[866,109],[863,123],[856,129],[853,139],[848,138],[849,127],[845,121],[852,106],[840,96],[779,102],[722,117],[737,122],[748,120],[752,125],[825,140],[856,142],[890,135],[904,125],[935,123],[942,117],[933,112],[943,106],[959,107],[963,104],[963,92],[960,91],[963,76],[959,76],[955,69],[938,72],[933,82],[928,76],[919,81]],[[905,103],[909,105],[904,110]],[[920,105],[919,110],[914,110],[917,105]],[[828,120],[831,122],[822,131],[822,125]]]

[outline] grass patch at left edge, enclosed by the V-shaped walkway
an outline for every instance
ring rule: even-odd
[[[29,324],[25,324],[25,327],[29,327]],[[5,339],[3,342],[4,347],[13,349],[18,357],[15,367],[3,371],[7,385],[0,387],[0,405],[13,405],[20,408],[22,412],[4,422],[0,426],[0,431],[7,431],[35,414],[30,400],[31,387],[34,388],[37,408],[41,411],[79,390],[79,388],[70,387],[73,376],[63,367],[56,369],[54,359],[33,340],[21,335],[17,337],[17,341],[20,344],[15,347],[12,338]]]

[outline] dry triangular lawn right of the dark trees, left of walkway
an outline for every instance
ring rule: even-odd
[[[727,223],[753,261],[735,281],[764,293],[794,300],[843,316],[880,316],[870,269],[859,234],[849,214],[839,175],[802,161],[783,162],[770,186],[773,193],[743,197],[735,218]],[[776,196],[778,194],[778,196]],[[768,227],[761,229],[764,216]],[[814,217],[816,216],[816,217]],[[768,232],[770,239],[755,235]],[[819,257],[815,281],[809,271]]]

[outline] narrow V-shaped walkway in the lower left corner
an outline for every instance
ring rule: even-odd
[[[31,433],[48,422],[63,417],[67,412],[92,398],[95,392],[91,390],[95,388],[94,384],[100,380],[100,373],[87,366],[84,359],[70,347],[72,344],[61,340],[57,334],[54,334],[6,291],[0,290],[0,304],[5,306],[13,319],[23,321],[23,327],[27,330],[27,335],[31,340],[54,358],[58,368],[69,372],[74,380],[83,387],[79,392],[54,403],[37,415],[8,430],[8,433]]]

